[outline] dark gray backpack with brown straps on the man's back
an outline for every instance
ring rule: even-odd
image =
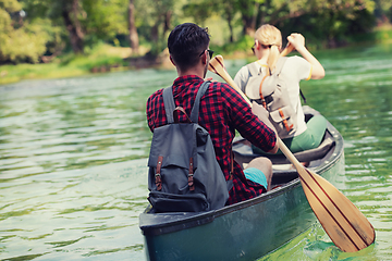
[[[148,200],[155,212],[216,210],[229,199],[232,181],[224,178],[209,133],[197,124],[209,84],[200,86],[191,119],[183,108],[174,108],[172,86],[163,89],[168,124],[154,130],[148,159]],[[184,113],[188,123],[179,123],[177,113]]]

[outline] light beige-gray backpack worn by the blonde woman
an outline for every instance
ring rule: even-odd
[[[291,104],[287,90],[290,83],[281,75],[286,59],[280,58],[275,70],[269,76],[261,75],[255,63],[248,64],[250,77],[245,89],[252,100],[267,109],[269,120],[281,138],[292,137],[297,129],[297,115]]]

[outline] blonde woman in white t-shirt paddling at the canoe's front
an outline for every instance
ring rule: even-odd
[[[255,44],[253,46],[254,53],[257,58],[246,66],[243,66],[234,77],[235,84],[249,96],[252,91],[247,86],[252,76],[250,71],[255,70],[260,75],[270,75],[274,72],[278,60],[285,59],[281,69],[281,75],[287,80],[287,90],[290,102],[297,115],[296,130],[293,134],[281,136],[280,138],[289,147],[292,152],[298,152],[317,148],[323,137],[327,121],[323,116],[314,116],[308,123],[305,123],[305,115],[299,99],[299,82],[303,79],[320,79],[326,75],[320,62],[306,49],[305,38],[301,34],[291,34],[287,41],[302,55],[289,58],[279,58],[282,49],[281,32],[273,25],[262,25],[256,30]],[[281,62],[282,63],[282,62]],[[247,88],[248,87],[248,88]],[[250,99],[256,99],[249,97]],[[262,108],[254,108],[254,113],[262,114]],[[254,147],[255,152],[262,153],[261,150]]]

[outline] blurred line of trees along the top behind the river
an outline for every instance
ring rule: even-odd
[[[186,18],[203,25],[212,15],[225,21],[228,42],[270,23],[333,46],[390,22],[391,7],[390,0],[0,0],[0,63],[47,62],[100,41],[130,46],[135,55],[149,45],[157,54],[174,25]]]

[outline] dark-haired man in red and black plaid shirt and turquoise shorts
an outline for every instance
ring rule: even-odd
[[[208,32],[196,24],[181,24],[171,32],[168,48],[179,75],[173,83],[174,102],[189,115],[212,55]],[[151,132],[167,124],[162,90],[154,92],[147,101],[147,121]],[[257,104],[253,104],[253,108],[259,110]],[[186,122],[185,115],[180,115],[180,122]],[[267,126],[261,122],[241,95],[226,84],[212,82],[209,85],[200,100],[198,124],[210,134],[217,161],[226,181],[232,166],[235,129],[264,151],[278,151],[275,133],[269,127],[270,124]],[[272,164],[267,158],[253,160],[244,171],[236,162],[233,162],[233,188],[229,191],[226,204],[254,198],[270,189]]]

